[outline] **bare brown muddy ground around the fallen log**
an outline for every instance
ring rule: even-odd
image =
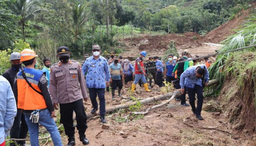
[[[125,88],[125,87],[124,87]],[[151,95],[163,94],[159,89],[153,92],[145,92],[137,87],[142,93],[136,94],[136,97],[150,97]],[[156,87],[154,87],[156,88]],[[153,89],[154,89],[153,88]],[[125,91],[125,88],[123,91]],[[117,91],[116,91],[117,92]],[[116,93],[117,95],[117,93]],[[123,96],[127,97],[126,94]],[[111,93],[106,92],[106,105],[124,103],[126,100],[112,100]],[[206,98],[206,102],[210,100]],[[152,107],[155,102],[142,106],[142,110]],[[188,103],[188,100],[187,100]],[[91,111],[91,103],[85,103],[88,108],[87,113]],[[106,115],[107,126],[109,129],[102,129],[102,123],[99,117],[95,117],[88,123],[86,137],[91,146],[253,146],[254,140],[249,135],[238,131],[228,129],[229,125],[221,113],[202,111],[204,120],[197,120],[191,111],[191,107],[180,106],[179,101],[172,100],[163,107],[150,111],[141,119],[127,120],[120,122],[119,117],[124,117],[127,112],[117,112]],[[204,130],[200,128],[191,128],[183,123],[184,118],[190,118],[190,124],[194,126],[215,127],[232,132],[229,135],[217,130]],[[82,146],[79,141],[78,131],[76,130],[76,145]],[[67,143],[67,137],[62,136],[64,144]]]

